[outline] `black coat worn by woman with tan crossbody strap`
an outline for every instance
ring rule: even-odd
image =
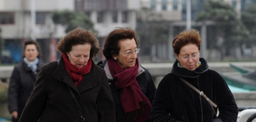
[[[238,107],[228,85],[216,71],[208,69],[203,58],[200,61],[201,65],[194,71],[177,66],[177,61],[174,63],[172,73],[167,74],[158,85],[150,112],[151,121],[212,122],[216,118],[208,101],[177,76],[203,91],[218,105],[218,120],[236,121]]]

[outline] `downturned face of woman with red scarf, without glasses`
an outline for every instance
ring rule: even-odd
[[[70,52],[67,53],[69,62],[79,69],[84,67],[90,59],[91,44],[73,45]]]

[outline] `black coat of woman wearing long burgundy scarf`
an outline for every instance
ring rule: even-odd
[[[106,60],[99,62],[97,65],[104,68],[104,66],[106,65]],[[154,82],[153,82],[152,77],[151,77],[150,73],[148,72],[148,70],[145,69],[144,67],[142,67],[142,68],[145,71],[142,74],[138,75],[136,77],[136,80],[137,80],[139,86],[141,87],[141,90],[144,93],[144,95],[148,98],[150,103],[152,103],[152,100],[153,100],[155,92],[156,92],[156,86],[154,85]],[[124,110],[123,110],[123,107],[122,107],[121,101],[120,101],[120,93],[121,93],[122,89],[117,89],[115,87],[115,82],[116,82],[115,80],[108,79],[108,82],[109,82],[109,86],[110,86],[113,100],[115,103],[116,122],[121,122],[121,120],[124,117]]]

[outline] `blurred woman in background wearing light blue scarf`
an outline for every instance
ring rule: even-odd
[[[33,40],[25,42],[22,58],[22,62],[14,67],[9,83],[8,109],[13,116],[12,122],[18,122],[43,65],[39,60],[38,43]]]

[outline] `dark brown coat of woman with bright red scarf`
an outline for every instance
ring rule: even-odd
[[[80,120],[75,102],[67,88],[71,87],[82,108],[85,121],[115,122],[115,109],[105,71],[94,64],[90,72],[75,86],[64,67],[51,62],[43,66],[34,91],[20,117],[20,122],[77,122]]]

